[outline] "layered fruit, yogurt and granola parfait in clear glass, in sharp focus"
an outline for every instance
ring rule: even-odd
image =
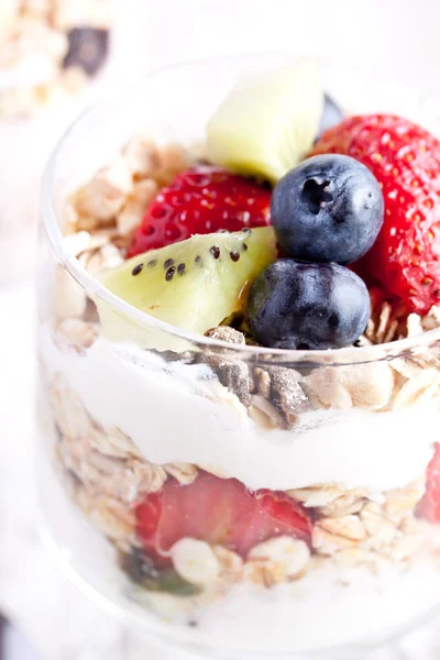
[[[440,601],[440,143],[246,73],[53,204],[43,499],[168,640],[353,657]]]

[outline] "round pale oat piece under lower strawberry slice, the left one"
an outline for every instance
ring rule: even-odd
[[[174,568],[191,584],[207,585],[220,573],[220,562],[210,546],[205,541],[185,538],[170,549]]]

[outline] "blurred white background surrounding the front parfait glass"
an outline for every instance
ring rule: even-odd
[[[87,0],[64,2],[76,11],[88,4]],[[179,61],[284,51],[346,58],[350,65],[358,61],[373,70],[380,68],[389,79],[429,89],[431,81],[437,84],[440,68],[440,4],[435,0],[114,0],[105,69],[78,95],[55,99],[37,113],[18,112],[13,105],[7,112],[1,105],[2,92],[11,85],[4,64],[9,52],[1,48],[8,46],[4,25],[12,4],[0,0],[0,612],[19,626],[42,660],[176,658],[175,651],[147,647],[121,624],[101,625],[108,619],[62,573],[38,538],[32,462],[37,451],[33,448],[33,261],[43,163],[73,117],[95,97],[120,94],[130,79]],[[33,6],[37,8],[38,1]],[[431,627],[413,636],[399,658],[440,659],[440,650],[429,657],[424,651],[435,635]],[[24,647],[16,658],[28,660]]]

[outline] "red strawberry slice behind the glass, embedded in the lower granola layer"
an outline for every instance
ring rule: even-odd
[[[179,539],[220,543],[242,557],[256,543],[289,535],[309,541],[306,510],[284,493],[251,493],[235,479],[199,472],[188,486],[168,480],[138,505],[136,532],[145,550],[162,557]]]

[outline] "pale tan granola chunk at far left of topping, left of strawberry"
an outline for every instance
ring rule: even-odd
[[[133,190],[131,173],[122,158],[102,167],[94,178],[74,195],[73,202],[79,216],[99,221],[114,218]]]

